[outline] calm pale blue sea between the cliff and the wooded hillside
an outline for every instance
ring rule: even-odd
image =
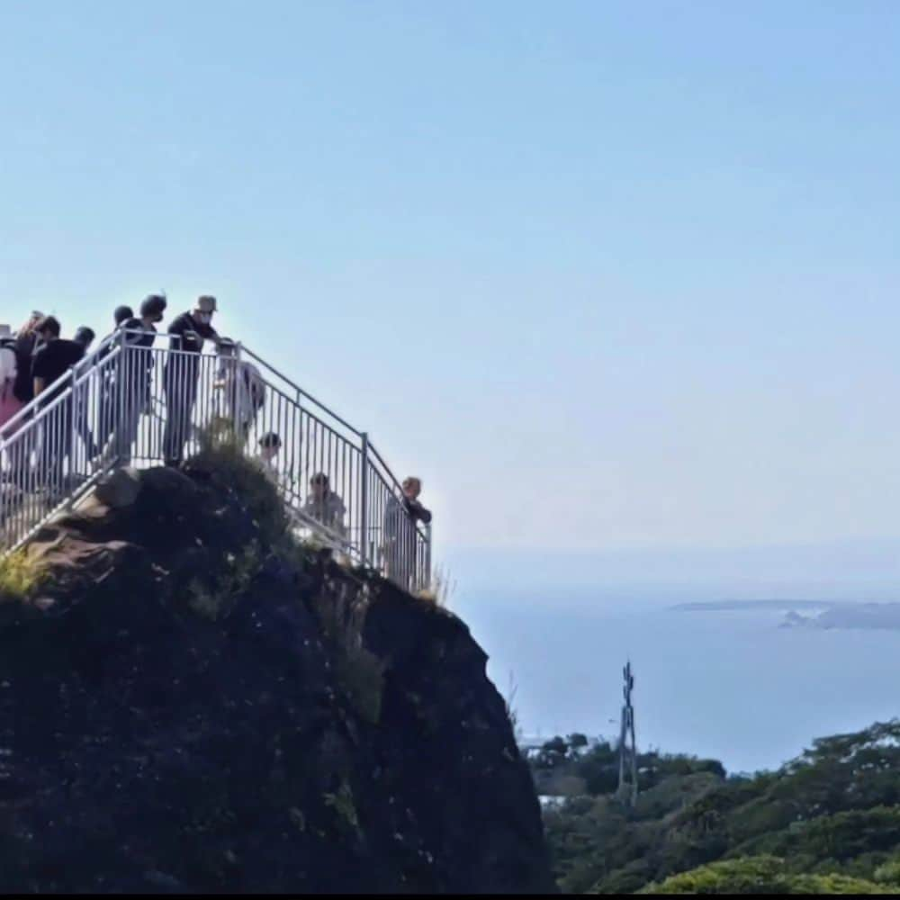
[[[779,627],[772,609],[688,612],[683,590],[653,597],[467,590],[450,607],[489,654],[529,737],[614,737],[622,667],[635,671],[641,749],[777,768],[813,739],[900,716],[900,631]],[[699,599],[709,600],[709,596]]]

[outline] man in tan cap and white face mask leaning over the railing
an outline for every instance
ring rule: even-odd
[[[219,341],[219,335],[212,328],[215,311],[216,298],[204,294],[197,299],[193,311],[183,312],[168,327],[170,352],[163,371],[163,390],[166,392],[163,454],[166,465],[179,465],[184,456],[197,398],[203,344],[207,340]]]

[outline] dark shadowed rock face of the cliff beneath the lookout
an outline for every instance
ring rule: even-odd
[[[554,890],[464,624],[265,537],[162,469],[37,537],[51,585],[0,608],[0,889]]]

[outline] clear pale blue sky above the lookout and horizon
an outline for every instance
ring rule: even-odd
[[[456,547],[900,536],[900,4],[0,0],[0,320],[165,289]]]

